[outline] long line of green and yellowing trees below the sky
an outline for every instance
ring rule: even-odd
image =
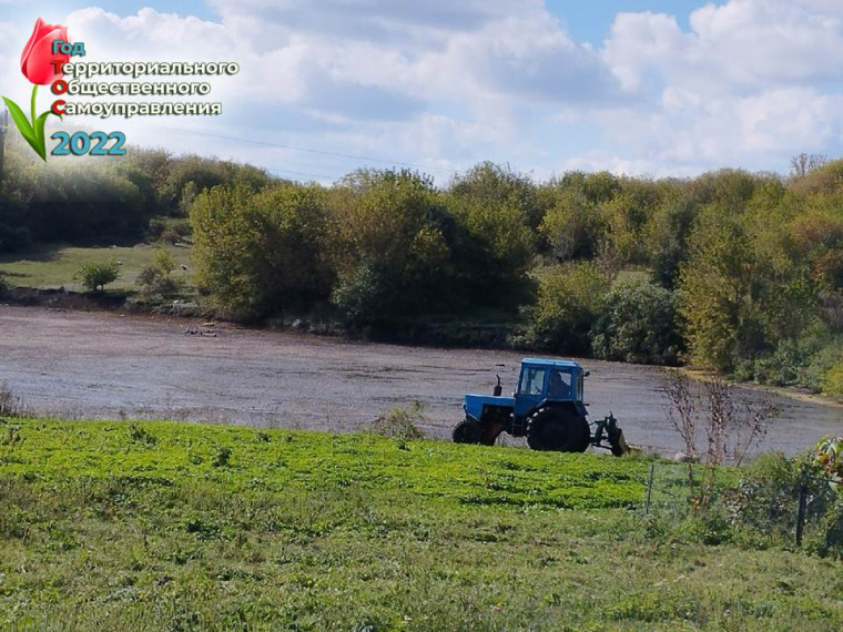
[[[481,163],[445,186],[406,170],[321,186],[159,151],[49,170],[10,154],[0,252],[175,231],[201,293],[243,320],[504,319],[524,347],[843,395],[843,161],[545,182]]]

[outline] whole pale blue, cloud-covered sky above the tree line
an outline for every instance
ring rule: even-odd
[[[209,80],[220,116],[68,124],[296,180],[410,166],[445,184],[485,160],[537,180],[786,173],[843,154],[840,0],[0,0],[0,94],[19,103],[39,17],[84,61],[241,67]]]

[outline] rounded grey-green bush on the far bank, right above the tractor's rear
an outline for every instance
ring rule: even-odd
[[[646,281],[621,281],[606,296],[591,328],[595,356],[627,363],[676,365],[682,350],[673,294]]]

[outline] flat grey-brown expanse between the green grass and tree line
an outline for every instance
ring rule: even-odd
[[[393,407],[426,405],[423,430],[448,438],[466,393],[512,389],[522,354],[354,343],[231,325],[0,306],[0,383],[41,414],[172,418],[353,430]],[[662,369],[582,360],[590,419],[610,410],[628,440],[680,445]],[[742,388],[741,398],[762,393]],[[782,416],[762,448],[794,453],[843,434],[843,408],[771,395]]]

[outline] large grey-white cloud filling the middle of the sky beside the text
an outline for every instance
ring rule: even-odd
[[[88,61],[126,59],[126,42],[133,60],[237,61],[240,75],[213,82],[228,113],[214,123],[230,135],[436,166],[465,167],[500,146],[525,151],[514,105],[593,103],[618,91],[599,57],[537,0],[215,7],[220,22],[91,8],[68,26],[87,42]],[[148,121],[124,126],[146,142],[173,142],[172,130],[155,133]],[[247,145],[202,142],[255,155]]]

